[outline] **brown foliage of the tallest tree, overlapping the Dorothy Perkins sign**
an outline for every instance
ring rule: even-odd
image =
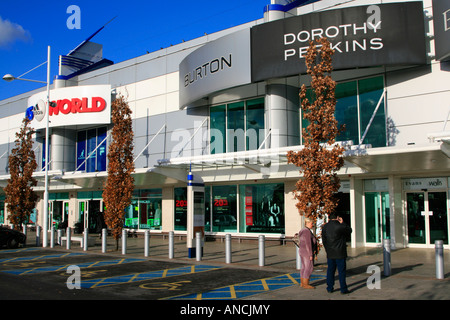
[[[333,50],[326,38],[311,42],[306,55],[307,72],[311,76],[314,101],[309,101],[305,85],[300,91],[303,117],[309,125],[303,129],[304,148],[289,151],[288,162],[300,167],[303,177],[294,190],[301,215],[322,218],[337,207],[334,194],[340,182],[336,172],[343,166],[344,149],[335,144],[340,131],[334,116],[336,83],[331,79]]]

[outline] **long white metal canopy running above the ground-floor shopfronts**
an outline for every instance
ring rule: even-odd
[[[232,170],[237,168],[249,173],[265,174],[271,166],[279,166],[282,171],[292,171],[298,174],[298,168],[287,164],[288,151],[299,151],[303,146],[272,148],[254,151],[242,151],[227,154],[200,155],[193,157],[176,157],[160,160],[158,165],[152,168],[138,168],[133,173],[135,186],[148,187],[175,185],[187,183],[187,173],[199,172],[204,169]],[[350,150],[349,150],[350,149]],[[371,173],[376,175],[386,174],[433,174],[450,170],[450,140],[442,139],[426,147],[408,146],[403,149],[396,147],[385,148],[360,148],[354,146],[347,148],[344,153],[346,162],[342,172],[347,173],[351,166],[359,168],[352,171],[354,174]],[[354,168],[354,169],[356,169]],[[208,175],[207,171],[204,174]],[[37,191],[43,188],[44,172],[34,174],[38,180]],[[287,177],[287,175],[285,175]],[[107,172],[62,172],[61,170],[49,171],[51,189],[103,189]],[[0,186],[7,185],[9,175],[0,176]]]

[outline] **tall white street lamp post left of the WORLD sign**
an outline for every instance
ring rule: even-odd
[[[44,63],[43,63],[44,64]],[[42,65],[42,64],[41,64]],[[41,65],[37,66],[36,68],[40,67]],[[34,69],[36,69],[34,68]],[[34,70],[32,69],[32,70]],[[30,70],[30,71],[32,71]],[[28,71],[28,72],[30,72]],[[27,74],[28,72],[24,73],[23,75]],[[31,79],[24,79],[19,77],[14,77],[11,74],[6,74],[3,77],[3,80],[5,81],[13,81],[13,80],[23,80],[23,81],[31,81],[31,82],[38,82],[38,83],[46,83],[47,84],[47,110],[45,110],[45,178],[44,178],[44,221],[43,221],[43,237],[42,237],[42,246],[47,247],[48,245],[48,155],[49,155],[49,137],[48,137],[48,125],[49,125],[49,112],[50,112],[50,46],[47,47],[47,82],[39,81],[39,80],[31,80]]]

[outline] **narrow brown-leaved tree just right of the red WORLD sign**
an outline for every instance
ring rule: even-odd
[[[133,127],[131,109],[123,96],[111,105],[112,141],[108,149],[108,177],[104,186],[105,222],[116,240],[122,234],[125,209],[134,190]]]

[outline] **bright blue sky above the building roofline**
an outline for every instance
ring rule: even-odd
[[[137,0],[15,0],[0,1],[0,77],[20,76],[47,60],[51,46],[51,77],[58,72],[59,55],[67,54],[116,17],[93,42],[103,45],[103,57],[125,61],[204,35],[263,17],[270,0],[137,1]],[[80,8],[80,29],[70,5]],[[46,65],[23,78],[46,81]],[[41,84],[0,79],[0,100]]]

